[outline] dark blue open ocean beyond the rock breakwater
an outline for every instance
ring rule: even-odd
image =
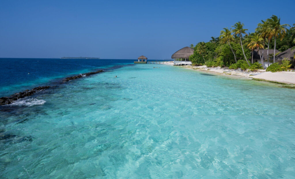
[[[114,65],[131,64],[135,60],[59,59],[59,58],[0,58],[0,96],[12,95],[56,79],[105,69]],[[30,74],[28,74],[30,73]]]

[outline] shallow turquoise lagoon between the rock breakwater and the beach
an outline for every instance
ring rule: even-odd
[[[294,178],[294,96],[155,64],[69,81],[1,108],[0,178]]]

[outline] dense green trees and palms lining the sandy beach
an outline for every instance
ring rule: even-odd
[[[269,53],[261,49],[277,49],[285,51],[295,49],[295,24],[281,24],[281,19],[272,15],[258,23],[255,32],[246,33],[248,29],[242,22],[232,25],[232,28],[223,28],[219,37],[211,37],[209,42],[199,42],[194,48],[194,54],[189,57],[193,65],[227,66],[232,69],[263,69],[263,66],[253,61],[253,51],[256,50],[263,62],[274,63],[278,53]],[[290,27],[289,29],[287,27]],[[264,55],[263,53],[267,53]],[[267,59],[264,58],[267,57]],[[294,56],[295,58],[295,56]],[[268,65],[269,66],[269,65]],[[280,66],[280,65],[279,65]]]

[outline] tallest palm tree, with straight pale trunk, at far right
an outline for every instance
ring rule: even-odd
[[[276,51],[276,39],[280,38],[280,40],[283,39],[283,37],[286,34],[286,27],[290,27],[289,24],[282,24],[281,25],[281,18],[278,18],[277,16],[273,15],[271,16],[271,18],[267,19],[267,24],[269,26],[269,35],[271,37],[275,37],[275,46],[274,46],[274,50],[273,50],[273,63],[275,63],[275,51]]]

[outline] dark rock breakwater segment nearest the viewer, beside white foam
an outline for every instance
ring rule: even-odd
[[[13,95],[11,95],[9,97],[0,97],[0,105],[11,104],[13,101],[16,101],[18,99],[21,99],[21,98],[24,98],[27,96],[31,96],[35,92],[40,91],[40,90],[44,90],[47,88],[50,88],[50,86],[39,86],[39,87],[33,88],[32,90],[25,90],[23,92],[14,93]]]

